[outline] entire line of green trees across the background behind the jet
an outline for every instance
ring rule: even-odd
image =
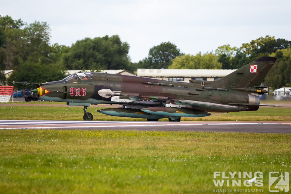
[[[137,63],[131,62],[129,44],[118,35],[84,38],[70,47],[52,45],[50,37],[46,22],[27,24],[0,15],[0,84],[5,81],[3,70],[9,69],[14,71],[8,81],[43,83],[62,79],[65,70],[238,69],[261,56],[274,56],[278,60],[264,83],[272,88],[291,86],[291,41],[269,35],[239,48],[223,45],[195,55],[182,53],[172,42],[162,42]]]

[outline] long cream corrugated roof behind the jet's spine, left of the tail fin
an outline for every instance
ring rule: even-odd
[[[141,77],[223,77],[235,70],[137,69]]]

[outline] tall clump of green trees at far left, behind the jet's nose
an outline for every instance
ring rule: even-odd
[[[49,39],[50,29],[46,22],[24,24],[21,19],[0,17],[1,72],[3,66],[13,69],[8,81],[43,83],[64,77],[64,68],[57,62],[66,47],[57,44],[50,46]],[[3,81],[2,74],[0,78]],[[16,87],[25,88],[24,85]]]

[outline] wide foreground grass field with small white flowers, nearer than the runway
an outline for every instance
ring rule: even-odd
[[[268,173],[291,171],[290,139],[291,134],[0,130],[0,193],[213,193],[235,188],[269,193]],[[215,187],[214,171],[260,171],[264,185]]]

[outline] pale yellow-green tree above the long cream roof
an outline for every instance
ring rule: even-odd
[[[173,59],[169,69],[221,69],[221,63],[212,53],[178,56]]]

